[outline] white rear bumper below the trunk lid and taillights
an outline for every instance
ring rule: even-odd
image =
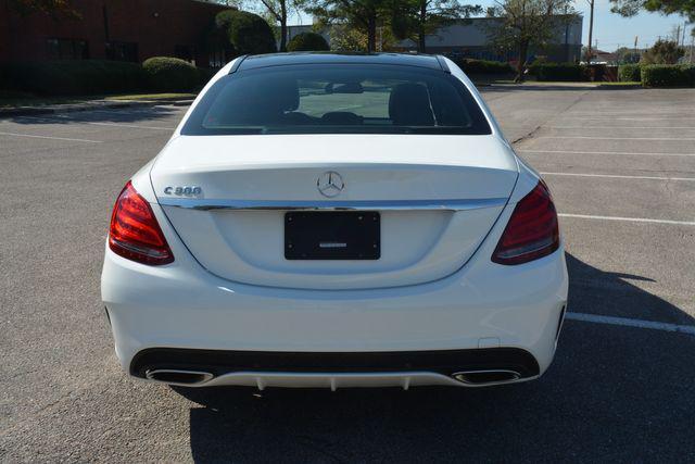
[[[502,225],[493,228],[476,255],[492,254],[506,224],[505,213]],[[102,299],[116,353],[123,368],[135,376],[143,376],[146,363],[141,360],[146,354],[161,353],[161,349],[184,350],[168,351],[168,363],[186,359],[175,353],[236,352],[232,358],[224,354],[213,366],[216,377],[204,383],[211,386],[261,386],[258,378],[263,385],[278,386],[460,385],[452,380],[451,372],[434,368],[441,360],[413,360],[433,356],[431,352],[465,352],[451,363],[465,366],[490,361],[489,349],[515,349],[536,365],[519,379],[541,375],[553,360],[567,302],[561,248],[519,266],[502,266],[473,255],[455,274],[421,285],[368,290],[281,289],[214,276],[190,256],[170,229],[166,230],[170,227],[166,220],[160,224],[170,237],[176,256],[170,265],[140,265],[109,249],[104,260]],[[331,353],[342,358],[324,362],[319,371],[281,362],[302,358],[321,364],[319,361]],[[354,364],[356,358],[350,353],[370,361]],[[400,364],[377,362],[387,353],[395,353]],[[260,364],[240,363],[244,356],[270,358],[263,358]],[[197,361],[197,365],[208,361]],[[195,371],[194,363],[187,367]]]

